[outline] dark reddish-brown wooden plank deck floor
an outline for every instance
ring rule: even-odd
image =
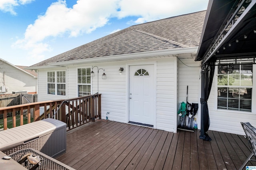
[[[57,160],[77,170],[235,170],[251,153],[241,135],[208,131],[208,142],[199,134],[96,121],[68,131],[66,153]]]

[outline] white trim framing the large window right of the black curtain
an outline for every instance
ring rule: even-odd
[[[218,66],[215,66],[214,70],[214,110],[221,112],[231,112],[231,113],[243,113],[243,114],[256,114],[256,64],[252,64],[252,111],[238,111],[238,110],[228,110],[228,109],[218,109]],[[242,87],[242,86],[241,86]]]

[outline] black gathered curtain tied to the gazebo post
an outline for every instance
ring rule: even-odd
[[[215,62],[209,64],[204,64],[201,70],[201,131],[200,139],[211,141],[212,139],[207,134],[210,127],[210,117],[208,111],[207,100],[210,96],[210,91],[212,88],[212,81],[214,77],[214,65]]]

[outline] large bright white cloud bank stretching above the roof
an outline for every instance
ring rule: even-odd
[[[7,1],[7,0],[6,0]],[[16,2],[16,0],[9,0]],[[31,2],[20,0],[19,3]],[[193,11],[205,0],[77,0],[77,4],[68,8],[65,0],[52,3],[46,12],[28,25],[24,39],[19,39],[13,47],[26,49],[31,57],[41,56],[51,51],[47,41],[56,37],[77,37],[91,33],[106,25],[110,18],[138,17],[130,24],[144,23]],[[206,9],[206,7],[204,8]],[[187,11],[187,12],[185,12]],[[119,31],[114,30],[114,31]],[[112,31],[112,33],[114,33]],[[47,40],[47,41],[46,41]]]

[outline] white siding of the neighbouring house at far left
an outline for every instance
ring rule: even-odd
[[[0,90],[0,94],[12,94],[12,92],[36,92],[36,78],[26,72],[2,62],[0,64],[0,86],[6,87],[6,92]]]

